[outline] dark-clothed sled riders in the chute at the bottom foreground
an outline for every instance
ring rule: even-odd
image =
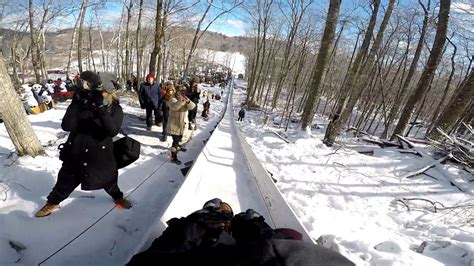
[[[230,205],[217,198],[167,224],[127,265],[354,265],[335,251],[303,242],[296,230],[272,229],[252,209],[233,216]]]

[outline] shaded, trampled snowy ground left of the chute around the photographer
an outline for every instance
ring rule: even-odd
[[[215,93],[219,88],[205,87]],[[183,163],[194,160],[223,111],[221,101],[211,101],[209,121],[198,114],[198,129],[180,153]],[[202,103],[203,101],[201,101]],[[61,209],[45,218],[34,213],[45,203],[61,166],[57,146],[67,133],[61,119],[69,102],[30,119],[46,154],[18,158],[6,129],[0,124],[0,265],[120,265],[155,236],[164,224],[155,226],[184,181],[184,167],[168,163],[167,142],[159,132],[145,130],[144,110],[130,99],[122,100],[123,132],[142,143],[138,161],[120,170],[119,186],[134,205],[118,210],[104,191],[75,190]],[[202,105],[199,105],[202,111]],[[190,132],[185,132],[185,138]],[[60,253],[55,253],[60,250]],[[60,254],[60,255],[58,255]],[[90,256],[90,255],[94,256]]]

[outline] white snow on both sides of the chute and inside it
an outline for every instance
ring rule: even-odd
[[[245,97],[245,86],[237,81],[234,114]],[[230,202],[234,212],[252,207],[272,220],[270,209],[258,197],[258,180],[248,178],[242,147],[235,146],[239,130],[318,244],[357,265],[474,265],[472,207],[434,212],[426,201],[406,200],[472,206],[474,178],[462,169],[437,165],[426,172],[431,177],[401,179],[434,159],[381,149],[350,135],[342,135],[328,148],[321,141],[327,121],[319,116],[319,128],[304,133],[296,123],[288,132],[262,126],[264,115],[252,110],[247,110],[243,122],[226,114],[215,128],[224,105],[211,100],[209,121],[198,113],[188,151],[180,153],[184,163],[196,162],[185,178],[182,167],[167,163],[171,139],[160,142],[161,129],[145,130],[144,111],[133,100],[125,98],[121,104],[126,114],[124,133],[142,142],[140,159],[120,170],[119,186],[133,204],[129,210],[114,208],[103,191],[77,189],[53,215],[35,218],[61,165],[57,146],[67,138],[60,123],[68,102],[28,117],[45,146],[43,156],[18,158],[0,124],[0,265],[124,264],[160,234],[168,218],[186,215],[213,197]],[[185,135],[189,138],[189,132]],[[213,144],[203,149],[204,142]],[[417,148],[425,151],[423,146]],[[363,155],[360,150],[374,154]],[[400,201],[404,199],[410,211]]]

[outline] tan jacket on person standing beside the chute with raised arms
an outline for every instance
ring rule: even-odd
[[[192,101],[186,103],[185,101],[180,101],[173,97],[168,101],[168,106],[170,108],[170,114],[168,118],[167,132],[170,135],[181,136],[184,132],[184,118],[186,116],[186,111],[194,109],[196,104]]]

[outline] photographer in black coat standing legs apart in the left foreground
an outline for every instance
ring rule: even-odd
[[[70,133],[67,142],[60,145],[63,164],[56,185],[36,217],[50,215],[79,185],[82,190],[104,189],[117,207],[131,207],[117,185],[112,141],[122,125],[122,107],[113,87],[103,86],[100,77],[91,71],[81,73],[80,88],[61,123],[62,129]]]

